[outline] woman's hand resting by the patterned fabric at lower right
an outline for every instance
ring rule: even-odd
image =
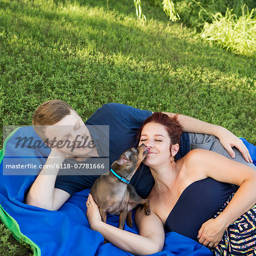
[[[215,248],[221,241],[225,226],[217,218],[210,219],[201,226],[197,238],[199,242],[209,249]]]

